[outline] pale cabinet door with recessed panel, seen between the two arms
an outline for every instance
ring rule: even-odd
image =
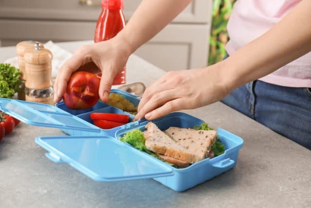
[[[207,66],[208,25],[170,24],[135,54],[165,71]]]

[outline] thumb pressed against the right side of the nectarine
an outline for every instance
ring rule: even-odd
[[[114,73],[113,70],[103,70],[98,92],[103,102],[108,101],[109,92],[111,90],[113,79],[115,78],[115,76],[116,73]]]

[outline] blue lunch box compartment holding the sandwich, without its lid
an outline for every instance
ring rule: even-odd
[[[138,129],[145,131],[145,126],[148,122],[149,121],[144,121],[140,123]],[[155,119],[152,122],[155,123],[155,125],[162,131],[170,127],[193,129],[195,126],[199,126],[204,123],[204,121],[198,118],[179,112],[170,113],[166,116]],[[121,129],[116,132],[115,137],[119,138],[120,136],[123,136],[125,132],[128,132],[128,130]],[[182,169],[177,169],[164,163],[173,169],[174,175],[156,177],[154,179],[173,190],[184,191],[232,169],[236,165],[238,152],[242,148],[243,140],[242,138],[220,128],[217,132],[220,141],[225,145],[225,153],[212,159],[206,158]],[[131,145],[129,146],[134,148]],[[151,156],[147,153],[145,154]]]

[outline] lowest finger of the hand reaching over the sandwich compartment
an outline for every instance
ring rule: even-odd
[[[145,118],[148,120],[153,120],[155,118],[161,117],[168,113],[172,113],[174,111],[180,111],[184,109],[183,103],[185,103],[185,101],[182,98],[171,100],[165,103],[163,106],[155,109],[154,111],[147,113],[145,115]]]

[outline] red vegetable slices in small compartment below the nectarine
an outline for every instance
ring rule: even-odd
[[[129,122],[129,115],[117,113],[90,113],[93,124],[102,129],[112,129]]]

